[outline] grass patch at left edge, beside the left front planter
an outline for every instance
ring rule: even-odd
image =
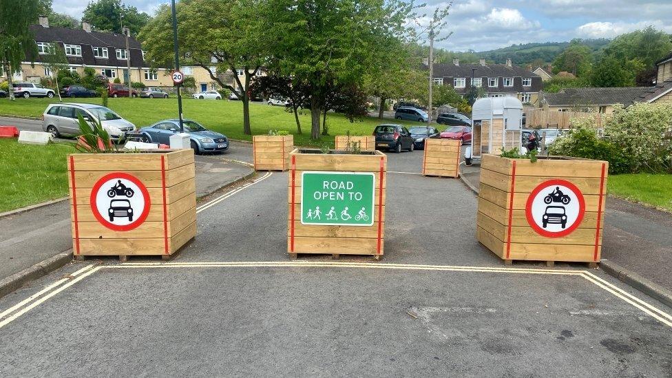
[[[70,144],[21,145],[0,139],[0,212],[67,196]]]

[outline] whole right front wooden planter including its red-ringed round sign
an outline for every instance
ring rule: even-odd
[[[476,238],[507,264],[596,264],[602,251],[608,171],[609,163],[598,160],[551,157],[530,162],[484,154]],[[567,196],[567,204],[549,196],[556,187]],[[548,224],[545,217],[550,217]]]

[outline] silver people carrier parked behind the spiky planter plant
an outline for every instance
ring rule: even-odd
[[[121,118],[118,114],[107,107],[87,103],[56,103],[51,104],[42,114],[42,129],[52,134],[54,138],[59,136],[78,136],[78,115],[81,115],[91,123],[99,120],[103,129],[112,140],[119,140],[127,132],[132,132],[136,126]],[[93,124],[92,124],[93,125]]]

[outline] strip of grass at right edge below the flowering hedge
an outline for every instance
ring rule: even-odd
[[[614,196],[672,211],[672,175],[614,175],[607,185]]]

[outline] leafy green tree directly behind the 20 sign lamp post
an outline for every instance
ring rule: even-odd
[[[182,0],[176,10],[178,43],[184,59],[181,62],[202,67],[213,81],[240,98],[243,132],[249,135],[249,87],[267,59],[260,19],[264,6],[263,0]],[[163,6],[140,32],[139,39],[147,46],[147,58],[154,65],[175,67],[170,25],[170,8]],[[233,74],[233,85],[226,81],[227,70]],[[244,80],[236,74],[238,70],[243,72]]]

